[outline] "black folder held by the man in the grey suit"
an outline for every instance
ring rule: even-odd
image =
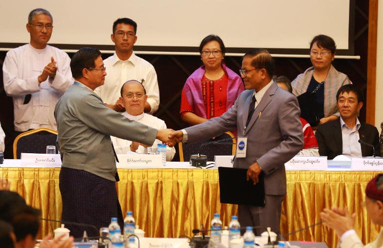
[[[265,206],[263,173],[256,185],[253,180],[246,180],[246,173],[247,169],[218,167],[221,203]]]

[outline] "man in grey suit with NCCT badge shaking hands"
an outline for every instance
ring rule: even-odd
[[[247,144],[244,154],[236,153],[233,167],[248,169],[247,180],[251,179],[254,184],[258,183],[262,173],[265,185],[265,207],[239,205],[239,222],[241,226],[271,227],[273,232],[279,233],[282,201],[286,194],[284,164],[303,147],[298,101],[271,79],[274,61],[265,49],[247,52],[239,72],[246,90],[226,113],[176,131],[170,137],[195,142],[237,128]]]

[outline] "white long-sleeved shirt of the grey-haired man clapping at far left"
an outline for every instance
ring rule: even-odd
[[[37,78],[51,62],[51,57],[58,67],[56,76],[38,83]],[[13,98],[14,129],[27,131],[45,127],[56,130],[54,107],[74,81],[68,54],[50,45],[36,49],[25,44],[6,53],[2,72],[5,92]]]

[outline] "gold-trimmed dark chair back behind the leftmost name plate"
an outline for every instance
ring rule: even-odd
[[[13,159],[20,159],[21,153],[46,153],[46,146],[56,146],[56,140],[57,131],[49,128],[37,128],[19,134],[13,141]]]

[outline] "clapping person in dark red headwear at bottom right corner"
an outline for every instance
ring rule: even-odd
[[[383,226],[383,174],[377,175],[366,186],[366,210],[371,221]],[[380,248],[383,247],[383,229],[375,241],[363,245],[354,230],[356,214],[350,215],[347,209],[324,209],[321,213],[323,224],[334,229],[340,238],[339,248]]]

